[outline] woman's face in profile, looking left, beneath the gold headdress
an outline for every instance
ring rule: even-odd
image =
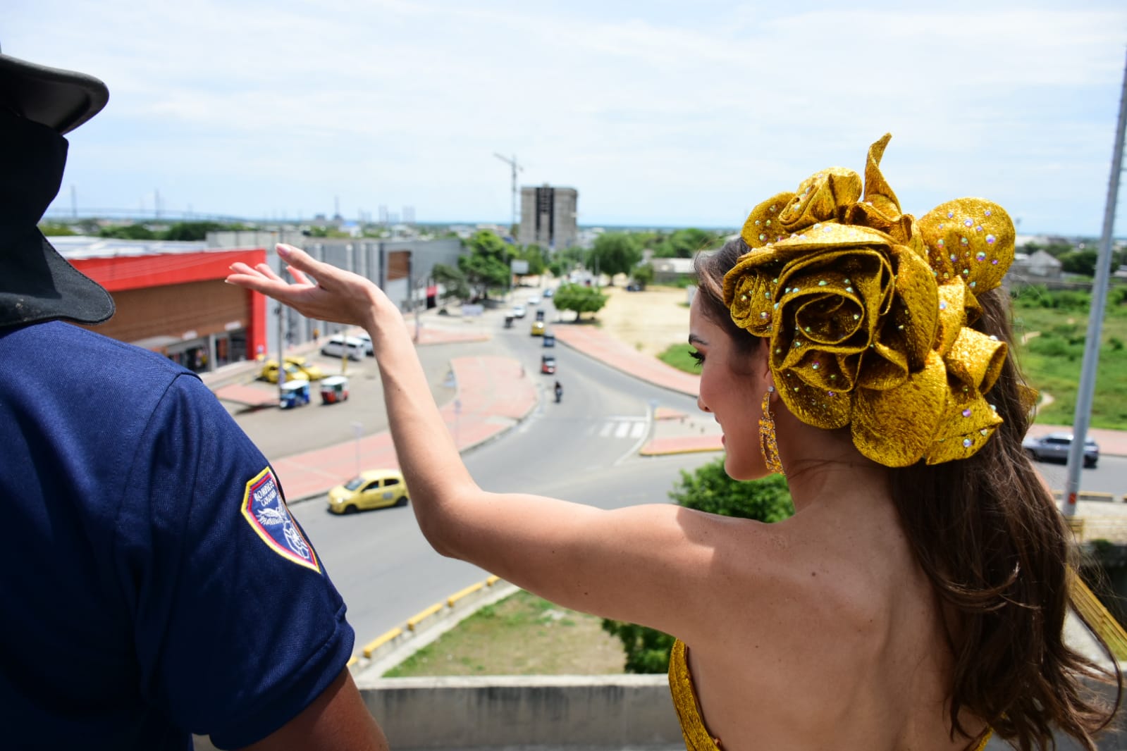
[[[724,430],[724,468],[733,480],[766,476],[760,452],[760,415],[767,381],[758,375],[758,357],[740,355],[728,332],[700,306],[703,293],[693,297],[689,312],[689,343],[695,348],[701,383],[696,405],[709,412]],[[766,364],[763,370],[766,370]]]

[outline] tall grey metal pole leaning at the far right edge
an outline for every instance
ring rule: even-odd
[[[1119,95],[1119,123],[1116,126],[1116,144],[1111,152],[1111,179],[1108,180],[1108,200],[1103,208],[1103,234],[1100,235],[1100,254],[1095,261],[1092,310],[1088,313],[1088,340],[1084,343],[1084,363],[1080,370],[1080,388],[1076,392],[1076,412],[1072,421],[1068,477],[1064,488],[1065,517],[1076,513],[1080,472],[1084,466],[1084,440],[1088,438],[1088,423],[1092,417],[1095,368],[1100,361],[1100,331],[1103,328],[1103,307],[1108,297],[1108,277],[1111,276],[1111,234],[1116,224],[1116,202],[1119,199],[1119,175],[1124,167],[1125,126],[1127,126],[1127,65],[1124,66],[1124,86]]]

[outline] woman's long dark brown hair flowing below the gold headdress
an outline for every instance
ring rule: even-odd
[[[747,251],[736,239],[694,261],[702,312],[743,352],[758,339],[733,322],[724,276]],[[978,301],[983,314],[974,328],[1009,343],[1006,294],[994,289]],[[992,439],[964,461],[891,470],[891,493],[916,560],[951,614],[952,737],[969,737],[959,723],[966,709],[1022,751],[1055,748],[1054,726],[1094,751],[1092,734],[1119,707],[1121,674],[1115,660],[1112,669],[1101,668],[1064,642],[1077,553],[1021,448],[1030,421],[1023,384],[1008,357],[986,395],[1004,420]],[[1115,706],[1099,701],[1082,678],[1113,682]]]

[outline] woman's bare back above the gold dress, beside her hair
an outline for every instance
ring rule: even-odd
[[[686,640],[704,723],[724,749],[966,748],[950,739],[939,602],[891,504],[834,499],[771,535],[769,571],[760,555],[718,560],[708,625]],[[752,607],[742,582],[761,593]]]

